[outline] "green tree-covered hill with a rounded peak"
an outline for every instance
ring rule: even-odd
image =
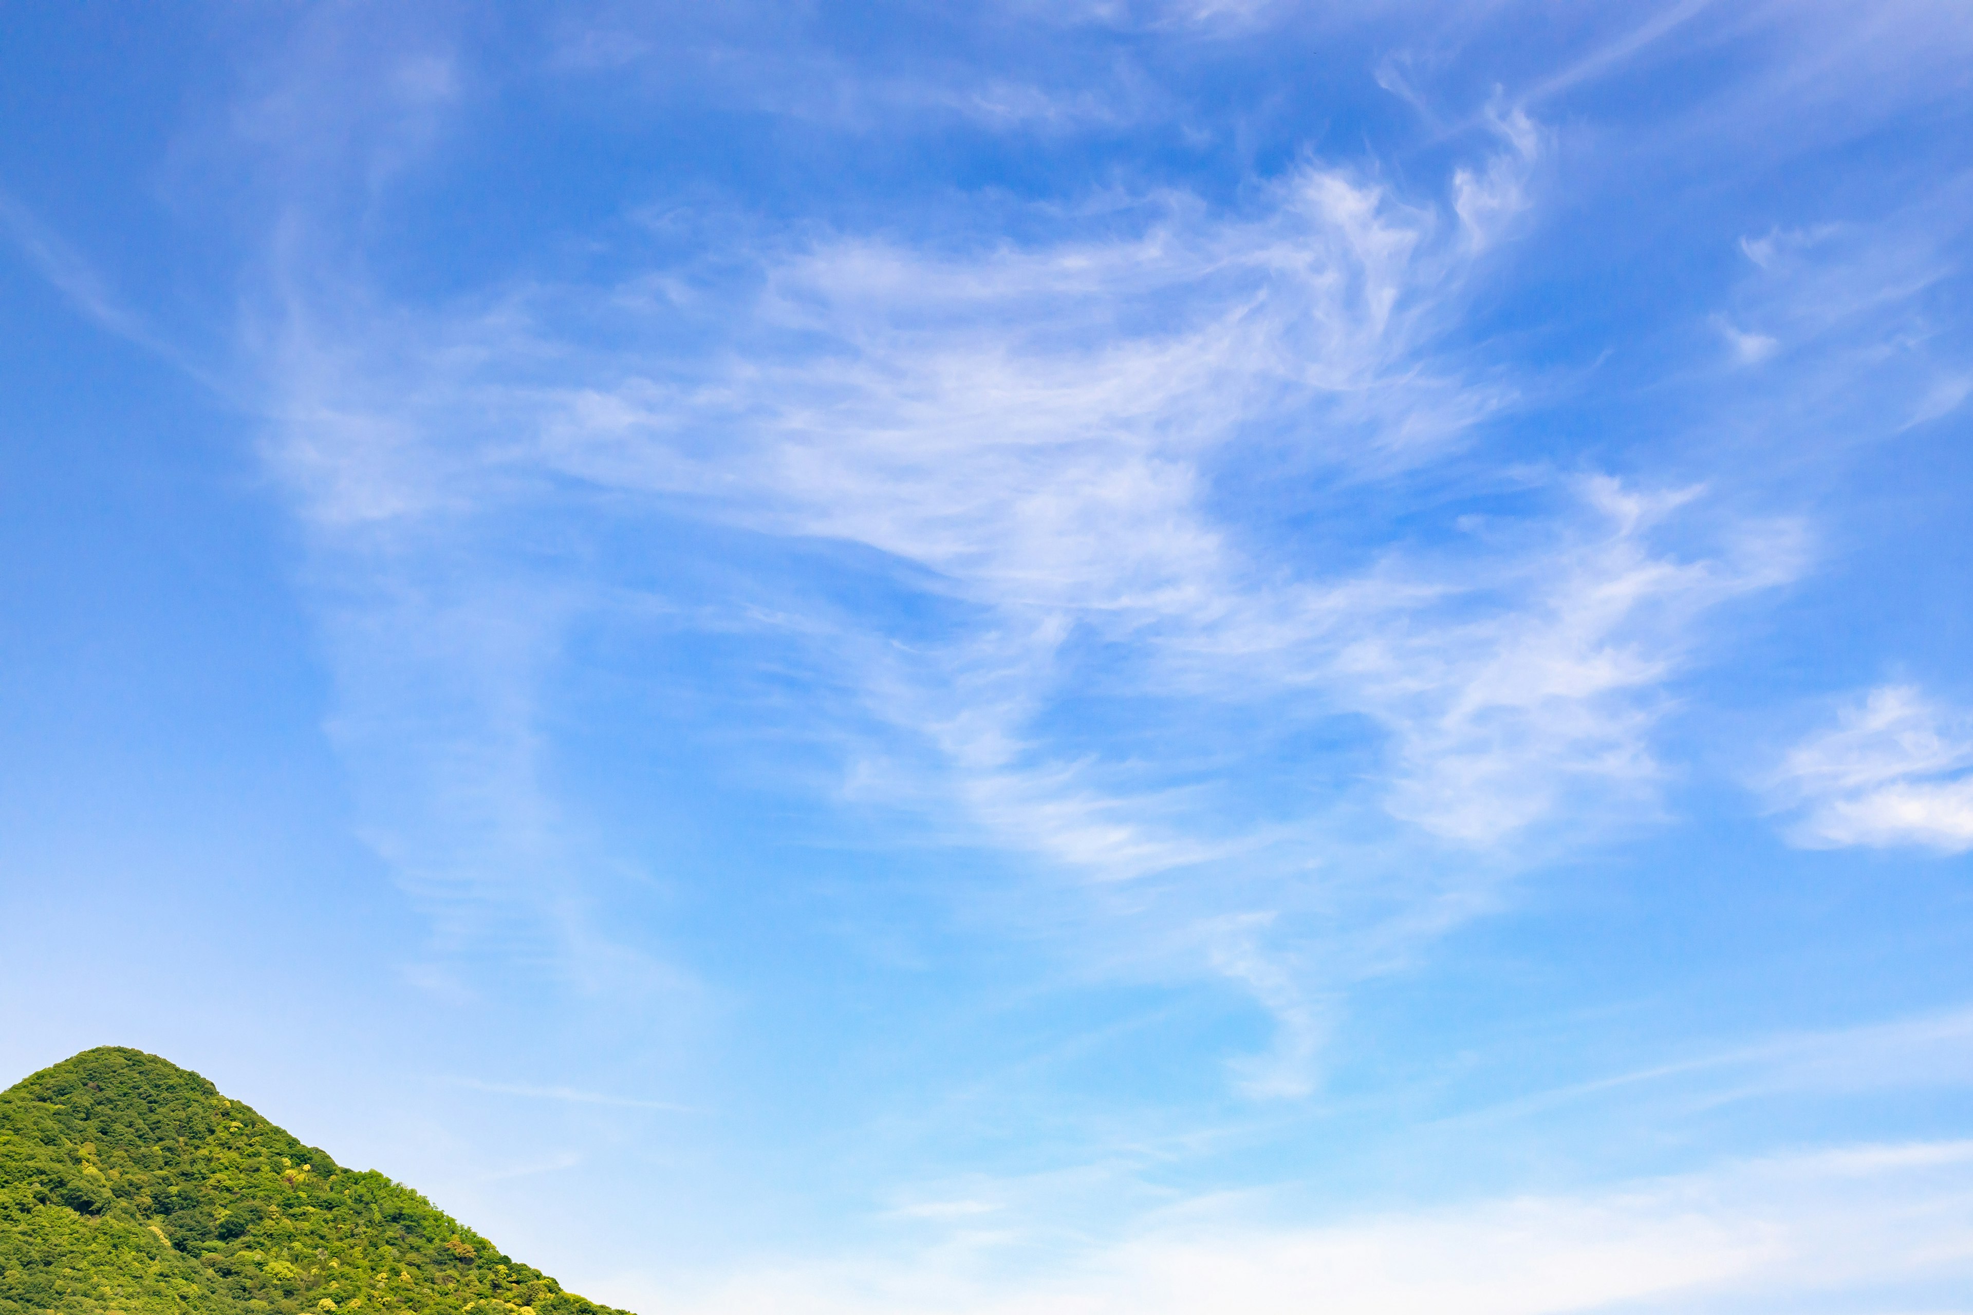
[[[0,1315],[41,1311],[623,1315],[118,1047],[0,1092]]]

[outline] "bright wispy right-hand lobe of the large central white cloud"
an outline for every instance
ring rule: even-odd
[[[1709,607],[1778,584],[1799,564],[1797,532],[1764,526],[1711,560],[1655,552],[1651,530],[1697,491],[1640,495],[1592,479],[1600,524],[1503,564],[1513,605],[1440,625],[1428,609],[1363,627],[1338,670],[1391,726],[1403,765],[1391,806],[1458,840],[1498,842],[1553,814],[1580,787],[1647,791],[1655,692],[1687,660]]]

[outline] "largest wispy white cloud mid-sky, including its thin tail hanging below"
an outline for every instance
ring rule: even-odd
[[[1454,860],[1456,877],[1399,877],[1405,832],[1373,856],[1328,804],[1237,822],[1215,777],[1239,763],[1215,765],[1182,722],[1148,771],[1129,749],[1054,743],[1052,700],[1087,680],[1067,641],[1127,649],[1105,690],[1164,700],[1166,720],[1176,700],[1204,720],[1267,706],[1282,727],[1381,726],[1381,763],[1318,771],[1359,775],[1413,834],[1511,862],[1531,832],[1651,810],[1661,686],[1711,607],[1788,578],[1799,554],[1784,524],[1679,556],[1667,540],[1705,522],[1697,491],[1612,479],[1576,483],[1553,520],[1499,546],[1478,536],[1436,560],[1393,550],[1330,574],[1257,540],[1211,499],[1251,434],[1286,424],[1294,459],[1379,479],[1509,404],[1432,351],[1470,237],[1338,173],[1296,175],[1275,199],[1257,219],[1170,201],[1127,241],[963,260],[797,252],[769,266],[764,313],[821,347],[700,388],[631,375],[572,390],[545,455],[750,528],[876,548],[985,609],[937,643],[829,633],[842,682],[929,747],[945,787],[941,800],[923,761],[860,741],[856,798],[957,806],[990,842],[1103,881],[1182,879],[1190,895],[1129,901],[1136,954],[1190,954],[1251,992],[1277,1035],[1235,1080],[1298,1096],[1316,1082],[1322,1000],[1488,907],[1494,873]],[[1350,848],[1363,869],[1344,875]],[[1294,885],[1330,891],[1314,938],[1280,917],[1304,899]]]

